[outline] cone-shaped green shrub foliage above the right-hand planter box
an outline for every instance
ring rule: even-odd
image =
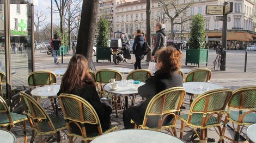
[[[205,19],[203,15],[197,14],[192,17],[190,23],[190,39],[188,40],[191,49],[205,48]]]

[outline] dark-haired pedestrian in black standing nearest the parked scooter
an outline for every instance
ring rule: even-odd
[[[141,68],[141,60],[144,59],[144,54],[143,54],[143,43],[144,43],[144,37],[142,35],[141,30],[136,30],[135,33],[135,38],[134,38],[134,43],[132,46],[132,51],[133,54],[135,54],[135,64],[134,64],[134,69],[142,69]]]

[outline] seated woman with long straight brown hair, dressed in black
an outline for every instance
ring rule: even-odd
[[[100,119],[102,130],[108,129],[110,124],[111,106],[100,101],[94,81],[88,72],[88,61],[83,55],[74,55],[69,61],[68,69],[62,77],[62,83],[57,95],[69,93],[81,96],[93,106]],[[72,132],[81,134],[80,129],[71,124]],[[86,132],[97,132],[97,126],[86,124]]]

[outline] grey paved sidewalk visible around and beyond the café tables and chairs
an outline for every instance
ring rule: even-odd
[[[71,51],[70,51],[71,53]],[[256,66],[255,66],[255,55],[251,51],[248,53],[248,61],[247,61],[247,72],[244,72],[244,63],[245,63],[245,51],[228,51],[227,53],[227,66],[225,71],[214,71],[212,69],[212,62],[214,61],[216,57],[216,53],[214,50],[210,50],[209,52],[209,66],[212,70],[212,78],[211,83],[216,83],[217,85],[223,86],[225,88],[230,88],[231,90],[234,90],[238,87],[242,86],[249,86],[249,85],[256,85]],[[53,58],[50,55],[47,55],[46,53],[40,53],[39,50],[35,51],[35,70],[56,70],[61,68],[66,68],[68,66],[69,59],[72,55],[68,54],[68,56],[63,57],[63,63],[60,58],[59,64],[53,63]],[[14,66],[13,69],[16,70],[16,74],[12,75],[13,78],[13,85],[17,86],[17,88],[22,89],[23,85],[25,87],[27,86],[27,76],[28,71],[26,67],[26,60],[27,58],[24,55],[16,54],[12,57],[13,59],[18,58],[17,60],[12,60],[11,62]],[[23,62],[22,62],[23,61]],[[96,70],[99,69],[105,69],[109,67],[123,67],[123,68],[133,68],[132,62],[135,62],[135,58],[132,56],[132,59],[128,61],[128,63],[120,63],[119,65],[114,65],[113,62],[109,62],[108,60],[99,60],[99,63],[96,63],[95,56],[93,57],[93,61],[95,62],[95,68]],[[187,65],[185,66],[185,52],[184,57],[182,58],[183,66],[182,68],[186,69],[196,69],[197,67],[194,65]],[[142,68],[148,68],[147,64],[143,64]],[[203,65],[201,67],[204,67]],[[124,75],[126,76],[126,75]],[[60,84],[61,81],[60,76],[57,77],[57,82]],[[141,98],[137,97],[136,104],[139,103],[139,100]],[[188,97],[186,96],[185,101],[189,101]],[[188,108],[188,107],[187,107]],[[120,110],[118,112],[118,118],[115,118],[115,116],[112,116],[112,124],[117,125],[119,129],[123,129],[123,112]],[[188,109],[182,110],[181,114],[188,113]],[[28,124],[27,124],[28,125]],[[177,121],[177,132],[179,137],[179,128],[180,128],[180,121]],[[242,136],[245,137],[245,131],[247,127],[244,127]],[[31,129],[28,127],[28,141],[31,139]],[[166,132],[166,131],[163,131]],[[19,127],[15,127],[13,130],[13,133],[15,134],[17,138],[17,142],[23,142],[23,133]],[[186,127],[184,132],[184,140],[187,141],[192,134],[191,128]],[[209,129],[209,137],[215,138],[218,140],[218,134],[215,132],[214,128]],[[233,137],[233,132],[230,127],[228,127],[228,130],[226,132],[226,135],[229,137]],[[241,140],[242,141],[242,140]],[[38,138],[35,138],[35,142],[38,142]],[[68,142],[68,140],[63,140],[63,142]],[[76,142],[81,142],[80,140],[77,140]],[[193,142],[199,142],[198,139],[194,140]],[[225,142],[230,142],[229,140],[225,139]]]

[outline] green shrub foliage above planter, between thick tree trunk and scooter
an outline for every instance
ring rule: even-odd
[[[107,19],[100,19],[97,23],[97,30],[99,35],[96,40],[96,47],[107,47],[109,40],[109,22]]]

